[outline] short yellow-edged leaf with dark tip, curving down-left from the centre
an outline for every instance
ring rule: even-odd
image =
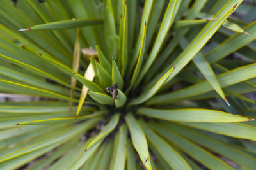
[[[104,138],[106,138],[108,136],[108,134],[110,132],[112,132],[116,125],[118,124],[118,120],[120,118],[120,114],[115,114],[113,115],[113,117],[111,117],[111,120],[109,121],[109,123],[104,127],[104,129],[102,129],[102,131],[100,131],[100,133],[93,139],[92,142],[90,142],[88,144],[88,146],[86,146],[84,152],[86,152],[87,150],[89,150],[90,148],[93,148],[93,146],[97,145],[97,143],[99,143],[100,141],[102,141]]]

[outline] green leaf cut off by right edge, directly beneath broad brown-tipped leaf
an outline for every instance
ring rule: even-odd
[[[256,127],[252,125],[246,125],[242,123],[181,123],[182,125],[188,125],[189,127],[195,127],[196,129],[202,129],[209,132],[218,134],[224,134],[235,138],[250,139],[256,141]]]

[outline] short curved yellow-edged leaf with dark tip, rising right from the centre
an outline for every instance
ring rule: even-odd
[[[150,97],[152,97],[154,94],[156,94],[156,92],[160,89],[160,87],[163,85],[164,81],[166,81],[166,79],[170,76],[170,74],[172,74],[173,70],[175,69],[175,66],[172,67],[169,71],[167,71],[157,82],[156,84],[151,87],[149,90],[146,90],[145,92],[143,92],[140,96],[138,96],[136,99],[132,99],[131,102],[129,103],[129,105],[135,105],[135,104],[140,104],[143,103],[145,101],[147,101],[147,99],[150,99]],[[147,89],[147,87],[146,87]]]

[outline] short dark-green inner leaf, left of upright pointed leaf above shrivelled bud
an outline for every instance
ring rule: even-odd
[[[106,69],[104,69],[99,64],[99,62],[96,62],[96,67],[97,67],[97,76],[99,76],[100,84],[102,85],[102,87],[106,88],[111,86],[112,80],[108,71],[106,71]]]

